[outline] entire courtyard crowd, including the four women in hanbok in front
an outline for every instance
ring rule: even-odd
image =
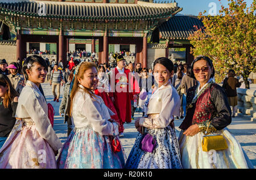
[[[114,67],[71,57],[67,68],[39,55],[26,58],[22,68],[1,59],[0,168],[253,168],[226,128],[240,85],[234,71],[222,88],[208,57],[197,57],[191,66],[162,57],[152,69],[127,63],[122,54],[113,58]],[[46,78],[53,101],[65,85],[59,108],[68,123],[64,144],[52,127],[41,86]],[[126,158],[119,138],[136,110],[143,117],[135,119],[138,135]],[[184,118],[179,137],[175,117]]]

